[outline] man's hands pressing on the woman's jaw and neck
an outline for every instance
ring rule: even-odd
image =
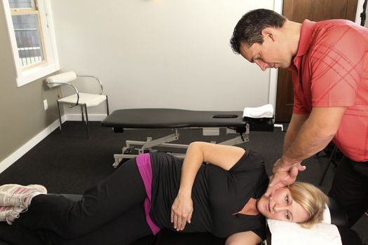
[[[278,159],[273,165],[273,175],[270,176],[270,183],[266,190],[266,197],[269,197],[278,188],[289,186],[297,179],[299,171],[306,170],[305,166],[301,165],[301,162],[294,163],[293,165],[285,166],[282,158]]]

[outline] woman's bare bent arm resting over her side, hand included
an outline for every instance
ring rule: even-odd
[[[244,155],[245,150],[236,146],[224,146],[206,142],[193,142],[186,151],[182,165],[182,175],[177,197],[171,208],[171,222],[176,230],[184,230],[186,222],[191,223],[193,202],[191,189],[198,169],[203,162],[231,169],[233,165]]]

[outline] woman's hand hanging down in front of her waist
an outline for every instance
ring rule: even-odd
[[[184,230],[186,222],[191,223],[191,215],[193,214],[193,201],[190,195],[178,194],[171,207],[171,223],[174,228]]]

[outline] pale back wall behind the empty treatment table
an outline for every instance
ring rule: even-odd
[[[229,40],[248,10],[273,5],[273,0],[51,1],[61,69],[98,76],[111,111],[242,111],[267,104],[270,71],[234,55]],[[88,111],[103,114],[104,106]]]

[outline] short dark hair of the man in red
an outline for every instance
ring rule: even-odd
[[[250,47],[253,43],[262,44],[264,38],[261,31],[266,27],[281,28],[286,18],[273,10],[259,8],[250,10],[243,15],[231,36],[231,48],[234,52],[240,53],[240,44],[245,43]]]

